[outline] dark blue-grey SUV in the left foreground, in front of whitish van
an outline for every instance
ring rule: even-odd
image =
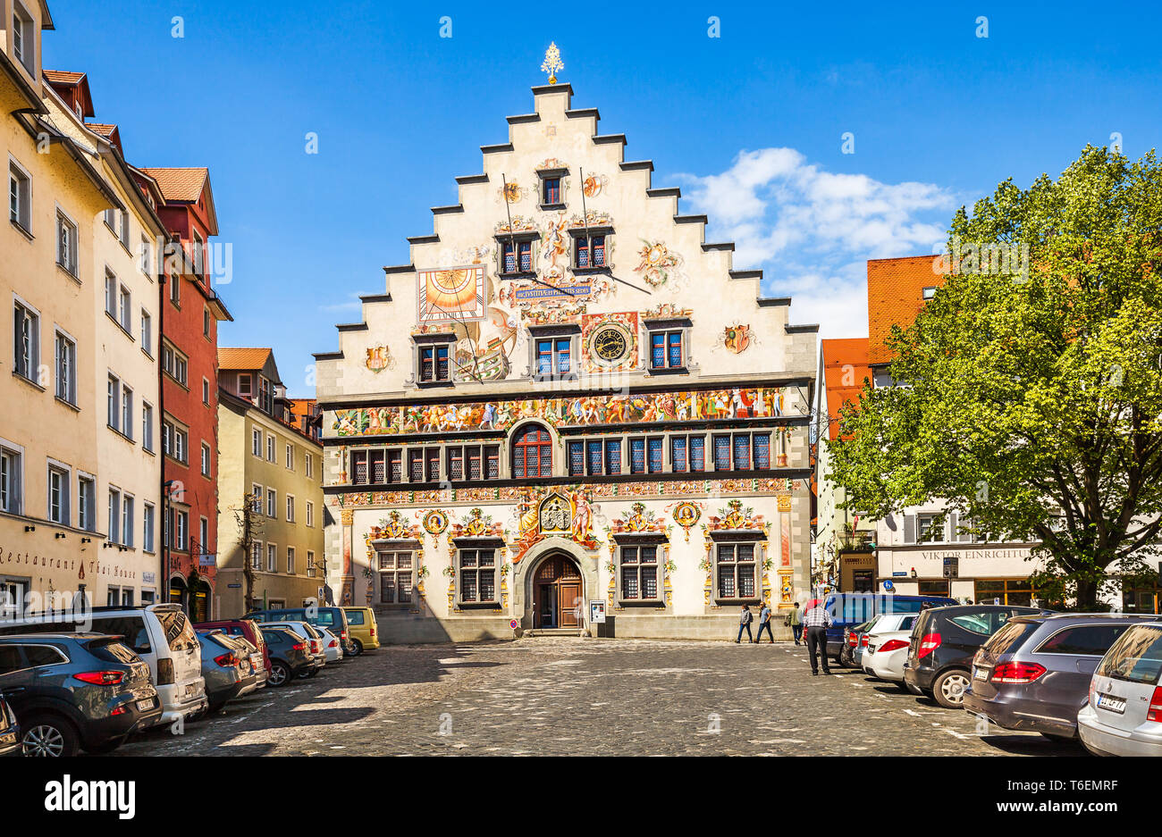
[[[149,665],[120,636],[103,634],[0,637],[0,692],[20,722],[26,756],[109,752],[163,712]]]

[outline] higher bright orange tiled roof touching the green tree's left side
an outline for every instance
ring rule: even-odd
[[[868,360],[873,366],[891,362],[884,340],[891,326],[908,327],[924,306],[924,289],[944,284],[933,270],[939,255],[868,260]]]

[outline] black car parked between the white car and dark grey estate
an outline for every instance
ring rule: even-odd
[[[973,655],[1012,616],[1053,613],[1017,605],[954,605],[920,613],[904,663],[904,685],[959,709],[971,678]]]

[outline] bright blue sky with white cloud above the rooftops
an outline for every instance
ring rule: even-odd
[[[1114,132],[1133,158],[1162,140],[1157,6],[783,6],[50,0],[44,65],[88,73],[131,163],[209,166],[232,245],[220,342],[273,346],[297,396],[356,295],[382,290],[479,146],[532,109],[550,41],[574,107],[824,337],[867,333],[866,259],[933,252],[998,181],[1055,175]]]

